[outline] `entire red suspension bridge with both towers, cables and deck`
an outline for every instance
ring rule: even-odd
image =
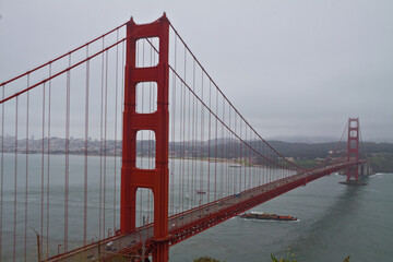
[[[165,14],[0,86],[0,261],[168,261],[170,246],[318,178],[357,184],[366,163],[358,118],[317,167],[285,158]]]

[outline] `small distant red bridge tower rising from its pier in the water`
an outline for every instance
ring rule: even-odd
[[[359,162],[359,118],[348,119],[347,162]],[[347,169],[347,182],[359,180],[358,166],[350,166]]]

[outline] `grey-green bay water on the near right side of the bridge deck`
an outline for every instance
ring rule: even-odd
[[[231,261],[393,261],[393,174],[377,174],[365,187],[340,184],[331,175],[253,209],[299,222],[235,217],[170,249],[171,261],[211,255]],[[294,257],[293,257],[294,254]]]

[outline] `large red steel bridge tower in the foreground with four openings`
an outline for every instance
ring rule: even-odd
[[[159,38],[159,61],[156,67],[136,68],[136,40]],[[164,15],[151,24],[136,25],[132,17],[127,25],[127,61],[124,80],[124,111],[121,168],[120,233],[135,231],[136,190],[152,189],[154,195],[154,261],[168,260],[168,51],[169,21]],[[157,110],[152,114],[136,112],[136,84],[157,83]],[[156,138],[155,169],[136,168],[136,133],[152,130]]]

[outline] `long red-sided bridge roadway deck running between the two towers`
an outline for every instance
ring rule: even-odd
[[[306,186],[308,182],[334,171],[361,163],[362,160],[358,163],[354,160],[341,162],[313,170],[307,170],[170,216],[168,218],[169,238],[167,240],[172,246],[279,194],[300,186]],[[47,261],[68,262],[80,261],[81,259],[81,261],[111,261],[119,255],[129,257],[130,261],[139,261],[142,258],[142,250],[144,250],[146,257],[153,251],[153,226],[154,224],[148,224],[144,229],[142,227],[138,228],[133,234],[110,237],[69,251],[68,253],[56,255]],[[144,239],[143,242],[142,239]]]

